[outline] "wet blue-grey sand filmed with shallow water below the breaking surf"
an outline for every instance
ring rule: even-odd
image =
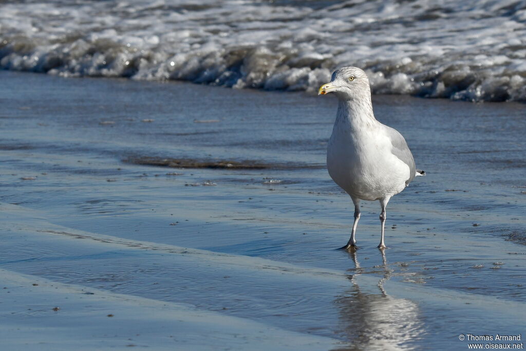
[[[463,349],[524,331],[524,105],[375,96],[428,176],[389,203],[384,255],[365,202],[350,254],[324,167],[334,99],[0,79],[10,349]]]

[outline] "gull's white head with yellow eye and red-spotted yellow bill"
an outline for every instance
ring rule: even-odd
[[[337,69],[327,84],[320,86],[318,95],[335,93],[340,100],[352,100],[371,96],[369,78],[358,67],[342,67]]]

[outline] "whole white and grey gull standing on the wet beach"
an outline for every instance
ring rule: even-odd
[[[371,88],[367,74],[358,67],[343,67],[323,84],[318,95],[334,93],[338,112],[327,145],[327,170],[332,180],[351,196],[355,221],[351,237],[342,249],[356,249],[356,227],[360,219],[360,200],[379,200],[383,240],[386,206],[416,176],[426,175],[417,169],[406,139],[396,130],[381,124],[372,112]]]

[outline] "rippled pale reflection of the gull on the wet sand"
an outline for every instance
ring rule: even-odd
[[[394,270],[389,267],[384,251],[380,250],[382,264],[370,269],[360,266],[356,250],[349,252],[355,265],[349,275],[352,287],[335,300],[340,332],[348,338],[349,346],[339,350],[415,349],[424,333],[418,305],[386,292],[384,283]],[[366,275],[381,278],[371,281]]]

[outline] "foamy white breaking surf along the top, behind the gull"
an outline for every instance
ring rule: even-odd
[[[3,1],[0,67],[315,91],[365,69],[376,94],[526,101],[526,2]]]

